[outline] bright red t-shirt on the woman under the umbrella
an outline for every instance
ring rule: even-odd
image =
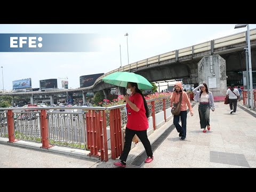
[[[129,97],[130,101],[134,103],[140,110],[134,111],[128,103],[126,103],[127,109],[127,124],[131,130],[143,131],[148,129],[148,118],[146,117],[146,110],[143,103],[143,98],[140,93],[135,93]]]

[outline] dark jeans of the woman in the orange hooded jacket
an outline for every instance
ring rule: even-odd
[[[181,120],[181,126],[179,121]],[[173,124],[179,133],[182,132],[181,139],[186,138],[187,134],[187,111],[180,111],[180,115],[173,116]]]

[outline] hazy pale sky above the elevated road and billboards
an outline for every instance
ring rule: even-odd
[[[122,66],[127,65],[127,43],[124,36],[126,33],[129,34],[129,62],[133,63],[158,54],[236,34],[247,29],[234,29],[235,25],[2,24],[0,25],[0,33],[94,33],[100,36],[99,52],[0,53],[0,66],[3,66],[4,89],[12,90],[12,81],[18,79],[31,78],[32,87],[36,88],[39,87],[39,80],[41,79],[57,78],[61,82],[61,78],[66,77],[68,77],[69,88],[77,88],[79,87],[79,77],[82,75],[107,73],[120,67],[119,45],[121,45]],[[256,28],[256,25],[250,24],[250,29],[254,28]],[[3,89],[2,73],[0,73],[0,76],[0,89]]]

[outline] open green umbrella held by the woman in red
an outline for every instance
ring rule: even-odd
[[[102,80],[105,83],[121,87],[126,87],[128,82],[137,83],[138,88],[143,90],[151,89],[153,87],[145,77],[126,71],[109,74],[106,77],[103,77]]]

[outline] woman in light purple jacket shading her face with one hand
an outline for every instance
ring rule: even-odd
[[[199,91],[197,91],[198,89]],[[200,118],[200,126],[201,129],[204,129],[203,132],[206,133],[206,126],[207,130],[211,129],[210,109],[212,109],[212,111],[215,110],[213,95],[211,91],[208,91],[208,87],[205,83],[196,87],[193,90],[193,93],[196,94],[194,100],[199,101],[198,113]]]

